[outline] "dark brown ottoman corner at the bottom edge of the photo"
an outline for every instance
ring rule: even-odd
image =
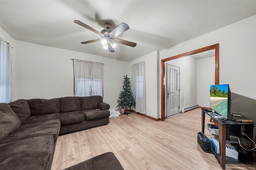
[[[106,152],[64,170],[124,170],[124,168],[112,152]]]

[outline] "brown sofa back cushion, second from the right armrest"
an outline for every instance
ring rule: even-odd
[[[80,97],[60,98],[60,112],[81,110]]]

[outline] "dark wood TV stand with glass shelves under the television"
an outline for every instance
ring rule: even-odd
[[[210,111],[207,111],[206,109],[202,109],[202,133],[204,133],[204,127],[205,127],[205,114],[210,115]],[[236,137],[230,137],[230,136],[226,136],[226,134],[229,134],[229,128],[232,128],[232,125],[240,125],[242,128],[242,131],[244,133],[246,133],[246,135],[248,135],[248,137],[250,139],[253,139],[253,127],[254,127],[254,123],[253,121],[249,121],[246,117],[242,116],[242,117],[237,117],[237,119],[240,119],[242,121],[232,121],[232,120],[226,120],[226,121],[220,121],[218,119],[215,119],[214,117],[212,117],[212,119],[214,119],[214,121],[218,122],[218,130],[216,131],[212,131],[211,128],[207,128],[210,133],[212,133],[212,135],[214,136],[214,138],[219,142],[219,147],[220,147],[220,154],[216,154],[216,152],[213,151],[214,156],[216,157],[216,159],[218,160],[218,162],[220,163],[220,167],[222,169],[226,168],[226,163],[228,164],[252,164],[252,154],[250,154],[249,156],[246,154],[239,154],[238,155],[238,159],[234,159],[234,158],[229,158],[226,157],[226,143],[232,143],[232,144],[238,144],[238,139]],[[236,119],[234,117],[234,119]],[[207,123],[206,123],[207,125]],[[228,133],[227,133],[228,132]],[[236,132],[233,132],[236,133]],[[238,131],[237,133],[240,133],[240,131]],[[246,139],[243,136],[239,137],[240,139],[240,143],[242,144],[252,144],[252,141]]]

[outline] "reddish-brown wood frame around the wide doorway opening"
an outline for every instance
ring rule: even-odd
[[[210,45],[208,47],[203,47],[200,49],[196,49],[193,51],[189,51],[187,53],[183,53],[180,55],[176,55],[176,56],[161,60],[161,121],[164,121],[164,119],[166,118],[165,117],[165,109],[164,109],[165,108],[165,84],[164,84],[164,82],[165,82],[165,62],[174,60],[174,59],[179,59],[182,57],[186,57],[188,55],[202,53],[204,51],[209,51],[209,50],[213,50],[213,49],[215,49],[215,84],[219,84],[219,80],[220,80],[219,44]]]

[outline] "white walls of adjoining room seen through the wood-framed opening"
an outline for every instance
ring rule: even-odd
[[[215,56],[197,60],[186,56],[167,63],[180,67],[180,111],[196,104],[209,107],[209,89],[215,80]]]

